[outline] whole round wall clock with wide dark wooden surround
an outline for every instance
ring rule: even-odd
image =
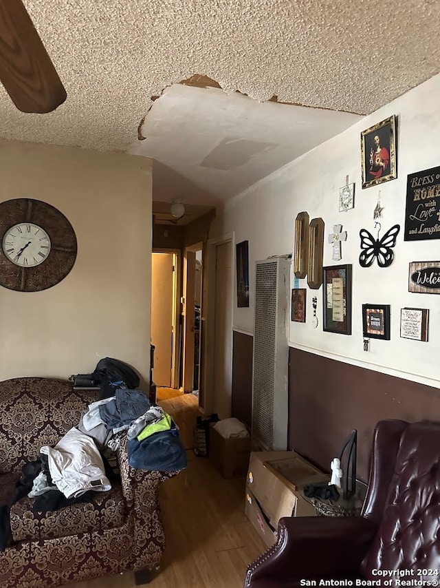
[[[0,202],[0,285],[20,292],[52,288],[76,260],[72,224],[51,204],[15,198]]]

